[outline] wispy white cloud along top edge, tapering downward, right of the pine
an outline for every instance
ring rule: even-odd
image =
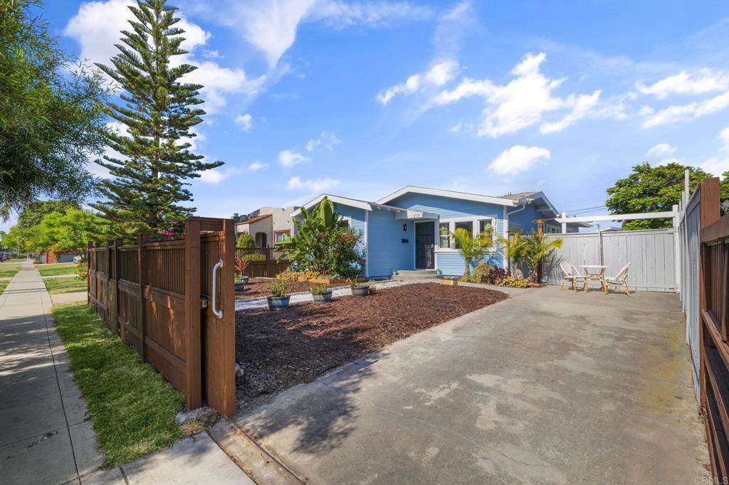
[[[304,21],[321,22],[332,28],[377,27],[432,15],[428,7],[409,1],[227,0],[217,2],[215,9],[200,6],[198,10],[241,33],[246,42],[262,52],[269,67],[276,66],[294,44],[299,25]]]

